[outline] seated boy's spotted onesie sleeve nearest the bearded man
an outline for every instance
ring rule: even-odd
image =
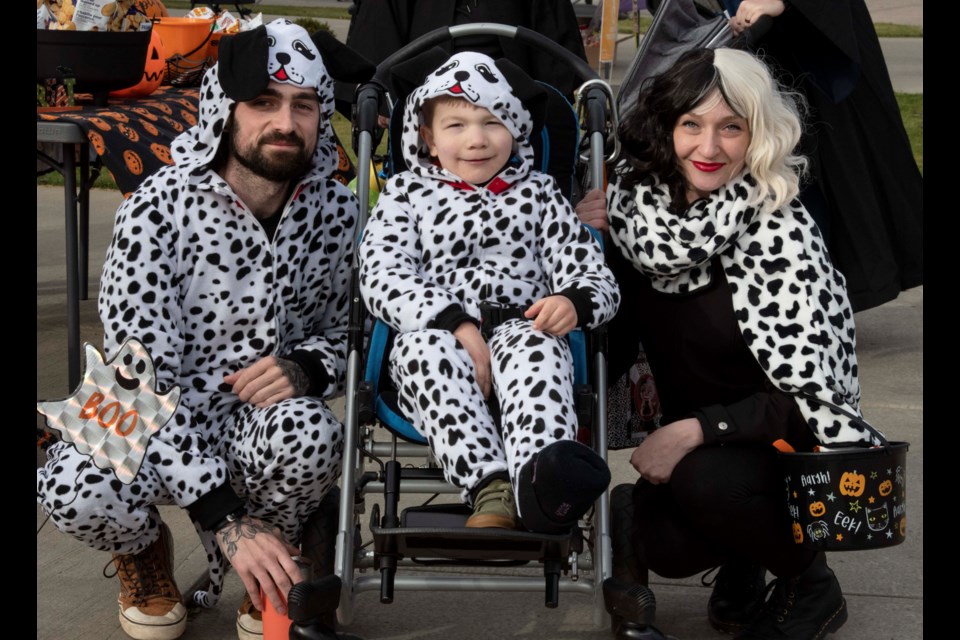
[[[364,303],[374,316],[400,332],[425,329],[441,311],[461,305],[456,294],[424,276],[421,225],[407,196],[408,186],[402,174],[387,182],[360,245]],[[416,186],[418,194],[434,188]]]

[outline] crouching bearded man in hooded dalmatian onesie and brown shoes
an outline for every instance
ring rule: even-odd
[[[134,638],[186,626],[155,505],[186,508],[201,534],[211,588],[196,603],[216,603],[229,561],[248,594],[240,637],[262,638],[260,589],[284,610],[300,580],[294,544],[339,476],[342,426],[322,398],[342,392],[358,207],[332,179],[331,75],[361,61],[315,37],[277,20],[224,39],[175,164],[117,212],[104,349],[137,338],[158,387],[181,389],[138,475],[122,484],[66,442],[37,472],[57,528],[114,554]]]

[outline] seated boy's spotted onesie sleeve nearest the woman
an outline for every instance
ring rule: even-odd
[[[553,178],[536,175],[535,179],[546,183],[539,191],[543,213],[537,236],[540,261],[550,277],[551,290],[563,293],[573,289],[590,301],[590,315],[578,318],[580,326],[593,328],[609,322],[620,305],[620,291],[604,263],[600,245],[577,218]]]

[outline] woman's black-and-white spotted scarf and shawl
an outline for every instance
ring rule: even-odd
[[[669,211],[668,189],[653,177],[633,190],[613,184],[607,204],[614,244],[665,293],[706,286],[710,261],[719,256],[743,338],[771,382],[860,415],[856,332],[843,276],[803,205],[761,213],[747,204],[755,184],[743,174],[683,215]],[[797,404],[824,445],[873,439],[816,402],[797,396]]]

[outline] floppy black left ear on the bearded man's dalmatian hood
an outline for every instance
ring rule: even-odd
[[[217,73],[228,98],[246,102],[263,93],[270,82],[267,76],[269,53],[270,43],[264,26],[220,40]]]

